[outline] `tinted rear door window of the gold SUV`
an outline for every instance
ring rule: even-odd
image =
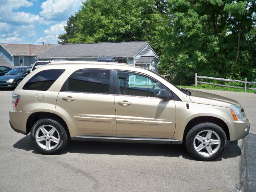
[[[68,91],[109,94],[110,70],[79,70],[67,84]]]

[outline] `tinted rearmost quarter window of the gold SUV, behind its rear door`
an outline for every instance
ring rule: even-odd
[[[24,90],[46,91],[60,77],[65,69],[49,69],[35,74],[23,86]]]

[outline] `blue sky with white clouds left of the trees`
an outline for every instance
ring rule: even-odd
[[[0,43],[57,44],[82,0],[0,0]]]

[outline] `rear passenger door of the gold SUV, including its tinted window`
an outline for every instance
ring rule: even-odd
[[[72,120],[70,136],[116,136],[112,71],[82,69],[62,86],[56,112]]]

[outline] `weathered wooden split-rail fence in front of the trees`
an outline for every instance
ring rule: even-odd
[[[197,81],[197,78],[201,78],[201,79],[212,79],[212,80],[226,81],[226,82],[239,82],[239,83],[244,83],[244,87],[236,87],[236,86],[229,86],[229,85],[221,85],[221,84],[215,84],[215,83],[206,83],[206,82]],[[224,78],[216,78],[216,77],[197,76],[197,73],[196,73],[196,74],[195,74],[195,86],[196,86],[196,87],[197,87],[197,84],[208,84],[208,85],[216,85],[216,86],[223,86],[223,87],[231,87],[231,88],[244,89],[244,92],[246,92],[247,89],[256,90],[256,88],[249,88],[249,87],[247,87],[247,84],[256,84],[256,82],[247,81],[247,78],[245,78],[244,81],[240,81],[240,80],[224,79]]]

